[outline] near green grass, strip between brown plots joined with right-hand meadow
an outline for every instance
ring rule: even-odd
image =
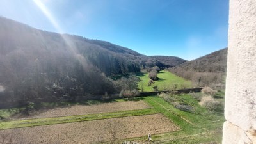
[[[220,93],[221,94],[221,93]],[[17,127],[33,127],[36,125],[51,125],[68,122],[81,122],[87,120],[100,120],[106,118],[118,118],[126,116],[149,115],[153,113],[163,113],[172,122],[179,125],[180,131],[154,134],[152,139],[156,143],[221,143],[222,125],[225,121],[223,112],[208,111],[199,106],[198,101],[191,97],[191,94],[173,95],[177,101],[193,107],[193,111],[180,111],[172,104],[164,101],[159,96],[141,97],[150,104],[150,109],[140,109],[132,111],[117,111],[113,113],[99,113],[91,115],[63,116],[56,118],[36,118],[31,120],[8,120],[0,122],[0,129],[12,129]],[[221,96],[223,97],[223,95]],[[124,101],[120,99],[117,101]],[[143,141],[145,137],[129,138],[126,140]],[[121,141],[126,141],[121,140]],[[153,141],[153,142],[154,142]]]

